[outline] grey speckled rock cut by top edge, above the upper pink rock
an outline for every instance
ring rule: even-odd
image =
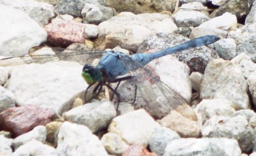
[[[84,6],[85,2],[83,0],[61,0],[54,6],[54,10],[62,15],[68,14],[80,17]]]

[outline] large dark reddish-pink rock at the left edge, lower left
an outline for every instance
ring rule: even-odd
[[[46,125],[52,121],[54,115],[53,109],[35,105],[11,107],[0,113],[0,129],[19,136],[38,125]]]

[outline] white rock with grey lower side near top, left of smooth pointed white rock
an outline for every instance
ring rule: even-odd
[[[190,27],[190,26],[198,26],[203,22],[210,20],[207,15],[199,12],[199,11],[187,11],[180,10],[176,14],[173,15],[175,23],[178,27]]]

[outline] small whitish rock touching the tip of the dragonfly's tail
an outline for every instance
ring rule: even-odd
[[[214,50],[217,51],[219,57],[225,60],[231,60],[236,54],[236,44],[234,39],[221,39],[213,44]]]

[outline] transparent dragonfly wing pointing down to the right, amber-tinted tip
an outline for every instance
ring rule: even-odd
[[[197,116],[187,101],[167,86],[153,71],[127,55],[122,55],[124,65],[133,76],[138,91],[145,102],[144,108],[153,116],[161,118],[175,110],[186,118],[197,121]],[[142,104],[143,105],[143,104]]]

